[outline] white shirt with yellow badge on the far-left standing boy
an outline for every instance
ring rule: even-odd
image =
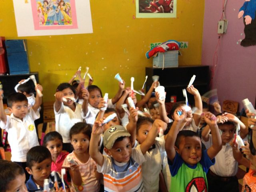
[[[13,114],[6,118],[6,124],[1,121],[0,127],[8,132],[8,142],[12,150],[11,161],[26,162],[28,150],[39,145],[34,120],[40,118],[40,114],[30,108],[23,120]]]

